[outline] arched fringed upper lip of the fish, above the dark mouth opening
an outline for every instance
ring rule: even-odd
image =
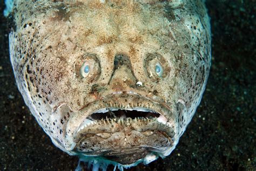
[[[126,102],[125,99],[127,100]],[[170,121],[176,120],[170,107],[167,107],[166,105],[158,101],[154,101],[150,98],[144,97],[143,95],[132,91],[113,92],[109,95],[106,95],[104,98],[91,102],[90,104],[84,106],[79,111],[77,111],[77,117],[75,117],[75,121],[69,120],[69,122],[73,122],[73,124],[76,123],[75,127],[66,127],[66,132],[68,132],[68,134],[66,134],[66,140],[68,140],[69,143],[72,143],[72,146],[68,148],[70,151],[73,150],[77,146],[77,142],[79,142],[79,140],[75,140],[75,136],[79,133],[78,130],[79,127],[83,124],[83,120],[100,108],[111,107],[119,108],[121,110],[136,107],[151,109],[152,111],[156,111],[160,115],[163,115],[166,118],[166,125],[168,125],[170,128],[172,128],[172,125],[170,125]],[[176,134],[176,132],[174,132],[174,134]]]

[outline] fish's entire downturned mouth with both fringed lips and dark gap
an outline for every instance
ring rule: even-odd
[[[88,111],[73,136],[77,153],[127,165],[173,145],[171,110],[137,93],[112,93],[80,112]]]

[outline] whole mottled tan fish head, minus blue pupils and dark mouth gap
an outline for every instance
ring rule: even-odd
[[[18,89],[58,148],[70,155],[123,153],[123,161],[108,159],[124,166],[172,152],[210,70],[204,1],[17,0],[11,16],[10,58]],[[86,78],[79,73],[84,61],[93,64]],[[163,67],[160,77],[152,70],[155,62]],[[101,120],[79,132],[85,118],[102,108],[150,109],[166,121]],[[97,136],[81,140],[90,131]],[[143,155],[128,155],[136,152]]]

